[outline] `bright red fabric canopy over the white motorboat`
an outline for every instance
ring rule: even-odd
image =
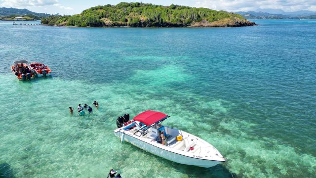
[[[134,121],[144,123],[146,126],[152,125],[162,119],[166,119],[168,115],[165,115],[157,111],[145,111],[134,117]]]

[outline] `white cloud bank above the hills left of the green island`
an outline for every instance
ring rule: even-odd
[[[66,7],[58,2],[58,0],[0,0],[0,7],[25,8],[53,5],[61,9],[73,10],[73,8]]]

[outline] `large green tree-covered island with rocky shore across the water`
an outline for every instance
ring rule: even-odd
[[[208,8],[142,2],[99,5],[77,15],[42,17],[50,26],[76,27],[241,27],[256,25],[242,15]]]

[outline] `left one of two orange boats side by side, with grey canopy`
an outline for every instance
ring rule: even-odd
[[[13,63],[14,64],[11,66],[11,72],[13,72],[19,80],[31,80],[31,78],[34,78],[32,68],[30,67],[28,61],[18,60]]]

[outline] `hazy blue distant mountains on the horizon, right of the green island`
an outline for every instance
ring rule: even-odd
[[[279,10],[278,10],[278,12],[279,12]],[[244,16],[247,19],[297,19],[297,18],[315,18],[315,16],[316,16],[316,12],[307,11],[307,10],[296,11],[296,12],[284,12],[283,11],[283,14],[275,14],[275,13],[268,13],[268,12],[262,12],[262,11],[259,11],[259,12],[240,11],[240,12],[236,12],[236,13]],[[285,15],[285,14],[287,14],[287,15]],[[290,15],[290,14],[292,14],[292,15]],[[297,15],[295,15],[295,14],[297,14]]]

